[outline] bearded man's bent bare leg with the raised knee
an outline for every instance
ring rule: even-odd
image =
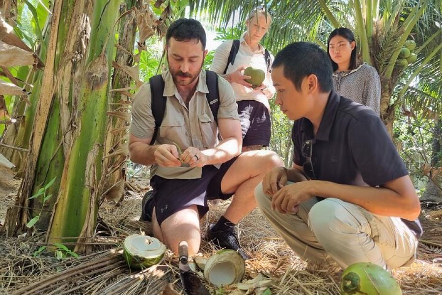
[[[269,150],[248,151],[239,155],[221,181],[223,193],[235,193],[224,217],[238,223],[249,214],[256,207],[255,187],[267,172],[283,165],[276,153]]]

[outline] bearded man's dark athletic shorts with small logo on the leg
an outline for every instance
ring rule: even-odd
[[[223,163],[220,169],[213,165],[204,166],[198,179],[152,177],[150,185],[158,223],[161,225],[170,215],[192,205],[196,205],[201,218],[209,210],[207,200],[229,199],[233,194],[221,192],[221,180],[236,159]]]

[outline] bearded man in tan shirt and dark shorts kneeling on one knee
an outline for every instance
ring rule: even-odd
[[[162,73],[164,118],[154,136],[151,86],[145,83],[134,97],[129,154],[135,163],[152,165],[153,190],[143,202],[143,219],[152,220],[154,236],[174,252],[185,240],[190,254],[198,253],[199,220],[208,211],[207,200],[234,195],[220,220],[209,227],[207,238],[247,259],[234,226],[256,207],[256,185],[283,163],[272,151],[241,153],[235,96],[221,77],[214,118],[206,99],[206,71],[202,70],[205,45],[205,31],[196,20],[179,19],[171,24],[166,33],[169,69]],[[183,150],[181,155],[177,146]]]

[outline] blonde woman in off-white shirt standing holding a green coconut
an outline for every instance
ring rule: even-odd
[[[238,104],[243,132],[242,151],[268,147],[270,143],[269,99],[275,94],[270,75],[273,56],[259,42],[269,30],[272,16],[262,6],[251,11],[246,20],[247,31],[240,40],[227,40],[216,50],[211,70],[232,86]],[[252,88],[244,79],[244,69],[252,66],[266,73],[264,82]]]

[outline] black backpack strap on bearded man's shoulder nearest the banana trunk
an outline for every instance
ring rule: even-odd
[[[150,144],[153,145],[157,139],[158,129],[163,122],[164,112],[166,111],[166,97],[163,96],[164,80],[162,75],[156,75],[149,79],[151,93],[151,109],[155,118],[155,131]]]

